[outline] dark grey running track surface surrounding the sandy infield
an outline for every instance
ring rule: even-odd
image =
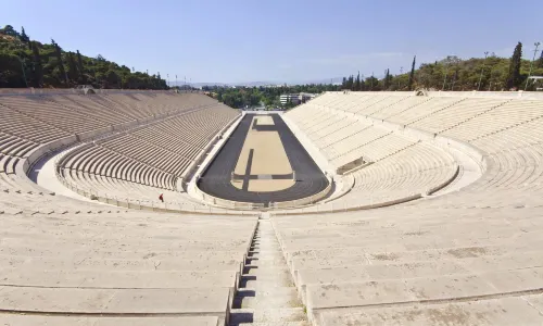
[[[306,198],[324,190],[328,186],[327,178],[278,114],[269,115],[275,125],[258,126],[258,128],[277,130],[290,165],[295,172],[296,183],[283,190],[266,192],[249,191],[247,187],[238,189],[230,183],[231,173],[236,168],[245,137],[249,129],[253,127],[254,116],[255,114],[247,114],[242,118],[217,156],[203,173],[198,184],[200,189],[222,199],[264,204]],[[252,178],[249,175],[245,175],[245,177]],[[277,178],[281,177],[277,176]]]

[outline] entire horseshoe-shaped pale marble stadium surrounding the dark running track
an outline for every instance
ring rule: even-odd
[[[76,91],[0,91],[0,325],[543,325],[538,93]]]

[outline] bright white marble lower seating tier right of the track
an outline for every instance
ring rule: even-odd
[[[349,100],[340,101],[338,98]],[[341,114],[342,109],[329,106],[330,103],[350,103],[358,112],[370,114],[375,110],[381,112],[402,103],[407,108],[416,108],[415,104],[426,101],[414,101],[408,96],[397,95],[327,93],[287,113],[334,167],[359,158],[372,163],[354,173],[353,189],[340,199],[291,212],[374,205],[425,196],[445,185],[455,176],[458,167],[455,160],[440,147],[419,143],[418,140],[372,124],[362,118],[362,113]],[[334,125],[343,127],[334,128]]]

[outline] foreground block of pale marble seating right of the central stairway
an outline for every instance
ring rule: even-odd
[[[517,214],[513,210],[460,214],[404,208],[363,215],[281,217],[275,218],[275,226],[310,313],[336,312],[333,317],[321,319],[323,325],[367,321],[368,315],[380,315],[375,311],[387,309],[404,309],[405,314],[393,319],[404,325],[430,306],[425,302],[446,305],[458,300],[471,303],[456,311],[463,321],[503,324],[506,310],[485,311],[477,317],[470,315],[472,304],[477,298],[489,297],[500,306],[516,298],[513,293],[523,291],[523,309],[512,306],[510,321],[536,325],[542,318],[534,309],[541,303],[540,294],[530,294],[543,281],[539,263],[543,259],[542,239],[538,237],[543,223],[535,212]],[[339,319],[339,315],[351,318]],[[449,317],[438,313],[412,324],[445,325]]]

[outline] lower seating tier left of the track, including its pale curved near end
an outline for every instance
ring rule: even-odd
[[[205,206],[177,192],[190,164],[238,112],[214,104],[136,128],[75,152],[64,166],[66,180],[98,197],[136,204],[188,210]],[[97,177],[92,177],[92,176]],[[118,186],[118,187],[117,187]],[[156,189],[153,189],[156,188]],[[157,201],[164,195],[165,203]],[[101,196],[102,195],[102,196]]]

